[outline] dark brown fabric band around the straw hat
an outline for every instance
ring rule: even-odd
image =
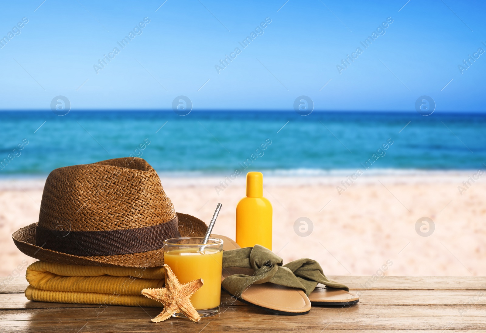
[[[35,244],[44,249],[79,255],[130,254],[162,249],[164,240],[180,237],[177,216],[154,226],[105,231],[64,231],[35,228]]]

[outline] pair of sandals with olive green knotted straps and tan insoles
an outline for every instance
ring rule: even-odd
[[[346,306],[359,300],[359,296],[350,293],[346,285],[326,278],[321,266],[314,260],[299,259],[281,266],[283,260],[266,248],[257,245],[255,248],[230,251],[240,247],[230,238],[224,238],[222,286],[245,303],[269,313],[304,315],[309,312],[308,303]],[[261,262],[262,258],[266,260],[263,265],[266,268],[255,261]],[[226,280],[233,275],[235,277]],[[289,295],[284,296],[284,292]],[[309,301],[302,294],[308,296]]]

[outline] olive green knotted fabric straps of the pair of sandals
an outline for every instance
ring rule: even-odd
[[[317,283],[349,291],[346,285],[326,278],[321,266],[315,260],[302,258],[283,266],[282,263],[282,258],[261,245],[223,251],[223,269],[241,267],[254,270],[252,276],[245,274],[228,276],[223,280],[223,287],[236,297],[241,297],[243,291],[251,284],[265,282],[300,288],[307,296],[312,293]]]

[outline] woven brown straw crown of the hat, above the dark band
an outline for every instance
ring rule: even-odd
[[[174,218],[174,206],[156,171],[141,158],[116,158],[53,170],[42,193],[39,226],[120,230]]]

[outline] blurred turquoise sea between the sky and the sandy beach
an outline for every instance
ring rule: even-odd
[[[0,112],[0,124],[0,176],[129,155],[190,174],[486,168],[486,114],[478,113]]]

